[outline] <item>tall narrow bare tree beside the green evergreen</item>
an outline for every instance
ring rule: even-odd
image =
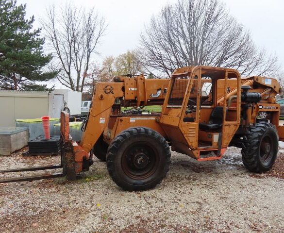
[[[47,20],[41,20],[41,23],[50,49],[57,58],[52,66],[61,71],[58,81],[82,92],[91,55],[97,52],[107,27],[105,19],[94,8],[86,10],[66,4],[59,12],[50,6]]]

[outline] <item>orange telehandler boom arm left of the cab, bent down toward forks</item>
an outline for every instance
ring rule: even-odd
[[[145,79],[143,75],[118,77],[116,81],[98,83],[96,86],[81,140],[81,146],[86,152],[93,148],[103,133],[109,116],[120,114],[120,104],[125,107],[163,104],[169,82],[168,79]],[[116,100],[119,101],[117,105]]]

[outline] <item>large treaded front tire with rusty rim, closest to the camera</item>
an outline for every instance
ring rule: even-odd
[[[146,127],[129,128],[110,144],[106,166],[113,181],[124,190],[147,190],[166,177],[170,155],[160,133]]]

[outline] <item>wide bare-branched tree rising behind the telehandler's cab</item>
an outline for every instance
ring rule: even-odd
[[[169,75],[183,66],[236,68],[242,75],[273,75],[277,57],[258,50],[250,32],[218,0],[178,0],[152,17],[141,34],[143,62]]]

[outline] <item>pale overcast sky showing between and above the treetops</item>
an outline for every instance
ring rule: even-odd
[[[35,27],[50,4],[60,7],[66,0],[17,0],[27,4],[27,16],[34,15]],[[150,17],[176,0],[72,0],[76,5],[95,7],[105,17],[108,28],[100,47],[101,60],[118,55],[139,44],[139,36]],[[276,53],[284,68],[284,0],[223,0],[231,14],[251,31],[255,44]]]

